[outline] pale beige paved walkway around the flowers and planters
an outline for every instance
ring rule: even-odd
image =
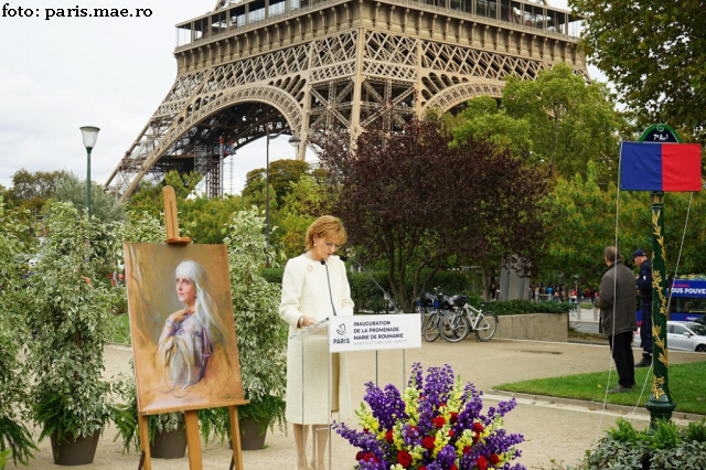
[[[635,354],[639,352],[635,351]],[[129,371],[131,351],[122,346],[106,349],[106,374],[117,375]],[[705,356],[697,353],[670,352],[672,363],[703,361]],[[546,343],[530,341],[512,341],[493,339],[488,343],[464,340],[459,344],[450,344],[442,340],[435,343],[422,341],[420,350],[409,350],[405,354],[407,370],[413,362],[421,362],[425,366],[450,364],[464,382],[472,382],[478,389],[484,392],[484,412],[498,400],[507,399],[493,386],[527,380],[569,375],[585,372],[606,371],[610,367],[610,354],[607,346]],[[351,357],[351,384],[354,404],[362,400],[364,383],[375,381],[375,353],[355,353]],[[378,354],[378,363],[384,364],[377,372],[379,383],[395,383],[403,380],[402,352],[386,351]],[[613,371],[614,373],[614,371]],[[602,404],[558,400],[552,398],[520,397],[520,405],[505,418],[505,428],[510,432],[520,432],[526,441],[520,445],[523,452],[518,460],[528,469],[548,469],[550,460],[576,463],[596,439],[605,435],[620,416],[631,418],[637,428],[648,426],[649,415],[643,408],[633,414],[632,409],[606,409]],[[685,423],[684,416],[675,416],[678,423]],[[688,417],[687,417],[688,418]],[[98,445],[93,464],[85,469],[137,469],[139,455],[121,453],[121,439],[114,442],[115,426],[106,429]],[[293,468],[295,445],[291,430],[288,436],[279,431],[268,432],[266,449],[244,452],[245,470],[269,470]],[[32,469],[56,469],[51,458],[49,439],[40,445],[41,451],[32,461]],[[203,468],[227,469],[231,457],[227,444],[210,444],[203,447]],[[355,449],[338,436],[333,438],[332,469],[352,469],[355,461]],[[8,466],[8,469],[12,464]],[[156,470],[189,469],[188,458],[178,460],[152,460]]]

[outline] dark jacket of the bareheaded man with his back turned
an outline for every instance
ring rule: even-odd
[[[613,263],[600,280],[593,305],[600,309],[601,333],[611,337],[635,331],[635,277],[632,270],[620,261]]]

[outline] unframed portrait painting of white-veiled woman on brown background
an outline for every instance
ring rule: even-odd
[[[126,244],[138,410],[243,400],[224,245]]]

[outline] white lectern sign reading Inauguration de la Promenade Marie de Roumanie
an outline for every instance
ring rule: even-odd
[[[331,352],[421,348],[419,313],[331,317]]]

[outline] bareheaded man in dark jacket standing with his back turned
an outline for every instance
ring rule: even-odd
[[[623,393],[635,385],[632,355],[632,335],[638,329],[634,274],[622,264],[614,246],[606,247],[605,256],[608,270],[600,280],[593,305],[600,309],[600,331],[608,337],[618,371],[618,385],[608,393]]]

